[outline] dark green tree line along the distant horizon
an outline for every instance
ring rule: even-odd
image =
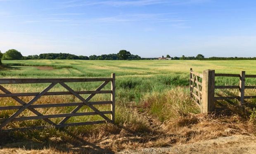
[[[164,58],[164,56],[162,56]],[[204,55],[198,54],[197,56],[186,57],[182,55],[181,57],[171,57],[166,55],[166,58],[171,58],[171,60],[256,60],[256,57],[209,57],[205,58]],[[15,49],[10,49],[5,53],[0,51],[0,64],[2,60],[156,60],[158,58],[142,58],[138,55],[133,55],[129,51],[121,50],[119,53],[104,54],[104,55],[73,55],[69,53],[42,53],[40,55],[28,55],[22,56],[21,53]]]

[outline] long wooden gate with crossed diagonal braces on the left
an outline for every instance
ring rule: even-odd
[[[66,83],[75,83],[75,82],[99,82],[103,81],[103,83],[93,91],[74,91],[66,85]],[[102,88],[111,83],[111,90],[102,90]],[[48,87],[46,87],[41,92],[27,92],[27,93],[12,93],[3,87],[3,84],[31,84],[31,83],[50,83]],[[62,85],[66,90],[66,92],[48,92],[52,87],[54,87],[57,83]],[[1,106],[0,104],[0,111],[1,110],[14,110],[16,109],[17,112],[12,114],[10,117],[0,119],[0,130],[4,129],[5,126],[14,121],[24,121],[24,120],[39,120],[42,119],[48,124],[55,126],[56,128],[65,127],[65,126],[78,126],[78,125],[88,125],[88,124],[101,124],[105,122],[114,123],[115,121],[115,74],[111,74],[111,78],[40,78],[40,79],[8,79],[8,78],[1,78],[0,79],[0,90],[4,92],[4,94],[0,94],[0,98],[3,99],[5,97],[12,97],[15,101],[17,101],[20,106]],[[87,98],[83,98],[80,94],[90,94]],[[92,97],[96,94],[111,94],[111,101],[98,101],[98,102],[89,102]],[[33,105],[40,97],[48,96],[48,95],[73,95],[77,97],[82,102],[79,103],[51,103],[51,104],[36,104]],[[21,100],[19,97],[24,96],[35,96],[31,99],[28,103]],[[100,111],[98,110],[95,105],[102,105],[102,104],[111,104],[110,111]],[[51,108],[51,107],[66,107],[66,106],[76,106],[70,113],[65,114],[56,114],[56,115],[43,115],[42,113],[38,112],[36,108]],[[78,110],[83,106],[88,106],[94,112],[85,112],[85,113],[78,113]],[[19,115],[24,110],[30,110],[36,114],[36,116],[28,116],[28,117],[19,117]],[[110,118],[108,118],[105,114],[110,114]],[[76,123],[66,123],[69,118],[74,116],[86,116],[86,115],[100,115],[104,120],[102,121],[92,121],[92,122],[76,122]],[[63,119],[56,124],[52,122],[50,118],[61,118]],[[41,128],[45,126],[36,126],[36,128]]]

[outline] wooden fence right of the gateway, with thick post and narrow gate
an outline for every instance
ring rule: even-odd
[[[215,77],[237,77],[239,85],[215,85]],[[199,79],[201,78],[201,82]],[[216,74],[214,70],[204,70],[203,74],[194,72],[190,69],[190,97],[200,106],[202,113],[214,111],[214,102],[224,99],[238,99],[241,105],[244,99],[256,98],[256,95],[245,95],[245,89],[255,89],[256,83],[253,86],[246,86],[246,78],[256,78],[256,75],[246,75],[245,71],[240,74]],[[238,89],[239,96],[215,97],[216,89]]]

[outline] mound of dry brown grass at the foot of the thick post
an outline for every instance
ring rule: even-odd
[[[254,136],[256,126],[238,115],[188,115],[164,123],[163,130],[179,136],[180,143],[209,140],[220,136],[244,134]]]

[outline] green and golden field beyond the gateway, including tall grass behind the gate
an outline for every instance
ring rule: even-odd
[[[117,126],[129,129],[132,132],[150,132],[149,124],[141,117],[140,112],[146,112],[160,122],[170,122],[175,118],[186,117],[190,114],[200,113],[199,108],[189,97],[189,71],[202,72],[205,69],[214,69],[216,73],[256,74],[256,60],[226,60],[226,61],[199,61],[199,60],[3,60],[0,67],[0,78],[100,78],[111,77],[116,74],[116,122]],[[238,78],[216,77],[216,85],[238,85]],[[95,90],[101,83],[69,83],[73,90]],[[247,85],[256,85],[256,79],[246,80]],[[40,92],[49,84],[19,84],[3,85],[11,92]],[[110,89],[110,84],[104,90]],[[52,90],[65,91],[60,85]],[[2,92],[0,92],[2,93]],[[237,95],[238,90],[217,91],[222,95]],[[247,94],[255,95],[255,90],[248,90]],[[84,94],[83,97],[88,95]],[[33,97],[21,97],[29,101]],[[110,100],[109,94],[97,94],[92,101]],[[72,96],[44,96],[36,103],[65,103],[78,102]],[[236,104],[238,101],[234,101]],[[248,112],[241,117],[249,120],[254,113],[255,99],[248,100]],[[226,104],[224,101],[220,103]],[[12,98],[0,98],[0,106],[18,105]],[[237,106],[237,105],[236,105]],[[226,104],[225,107],[228,107]],[[74,107],[38,109],[40,113],[56,114],[69,113]],[[109,110],[110,106],[97,106],[99,110]],[[238,114],[231,108],[230,112]],[[83,107],[79,112],[91,111]],[[15,110],[1,111],[0,118],[12,115]],[[240,112],[240,111],[239,111]],[[24,111],[21,116],[30,116],[30,111]],[[227,115],[227,114],[226,114]],[[61,118],[53,119],[59,122]],[[81,116],[70,118],[67,122],[83,122],[101,120],[101,117]],[[42,120],[30,120],[26,122],[13,122],[7,128],[34,126],[45,124]],[[187,125],[186,125],[187,126]],[[66,128],[76,134],[86,132],[101,126],[79,126]],[[107,129],[104,129],[107,131]],[[55,129],[47,129],[45,133],[50,136],[62,136],[70,139],[64,132]],[[85,133],[85,134],[86,134]],[[149,133],[150,134],[150,133]],[[9,135],[16,140],[25,138],[43,142],[47,136],[40,131],[21,133],[19,131]],[[65,136],[65,137],[63,137]],[[48,136],[49,137],[49,136]],[[47,143],[48,144],[48,143]],[[50,144],[50,143],[49,143]]]

